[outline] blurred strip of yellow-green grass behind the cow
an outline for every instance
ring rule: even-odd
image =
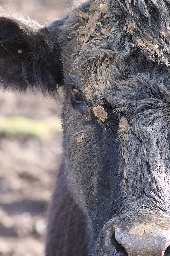
[[[23,116],[0,117],[0,136],[7,138],[50,139],[61,131],[59,120],[37,121]]]

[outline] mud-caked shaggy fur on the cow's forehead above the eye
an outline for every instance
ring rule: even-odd
[[[157,1],[88,1],[66,20],[63,65],[84,82],[87,99],[101,100],[115,80],[127,76],[127,63],[151,60],[169,66],[169,3]],[[70,52],[70,60],[65,53]],[[121,77],[122,76],[122,77]]]

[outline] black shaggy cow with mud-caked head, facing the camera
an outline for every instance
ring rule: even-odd
[[[169,256],[169,0],[90,0],[48,27],[0,16],[2,87],[65,95],[46,256]]]

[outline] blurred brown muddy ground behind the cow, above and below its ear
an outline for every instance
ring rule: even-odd
[[[46,24],[70,0],[0,0],[0,6]],[[31,92],[0,91],[0,255],[42,256],[47,208],[61,161],[58,102]]]

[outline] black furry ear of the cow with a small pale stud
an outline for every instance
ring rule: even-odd
[[[1,16],[0,86],[20,92],[28,87],[40,88],[43,94],[55,96],[57,85],[63,83],[61,50],[56,38],[33,20]]]

